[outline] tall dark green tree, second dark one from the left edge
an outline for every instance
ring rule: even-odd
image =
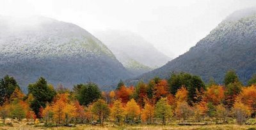
[[[33,95],[33,101],[31,101],[31,108],[35,112],[37,117],[41,117],[40,108],[45,108],[46,103],[51,103],[56,91],[52,85],[47,85],[47,81],[40,77],[37,82],[28,85],[28,94]]]

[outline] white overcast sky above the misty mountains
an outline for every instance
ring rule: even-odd
[[[1,0],[0,15],[42,15],[77,24],[92,34],[108,29],[140,34],[177,57],[235,10],[256,0]]]

